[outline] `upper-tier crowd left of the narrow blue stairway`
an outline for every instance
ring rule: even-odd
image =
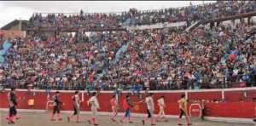
[[[123,12],[121,14],[33,14],[30,18],[30,29],[49,29],[52,31],[90,31],[92,29],[102,28],[122,28],[125,20],[131,16],[131,13]]]

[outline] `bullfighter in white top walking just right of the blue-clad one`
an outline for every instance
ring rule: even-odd
[[[143,118],[143,124],[145,124],[145,121],[149,117],[151,117],[151,125],[155,125],[155,123],[154,123],[154,100],[153,100],[153,97],[154,97],[154,94],[149,93],[148,97],[146,98],[148,116]]]

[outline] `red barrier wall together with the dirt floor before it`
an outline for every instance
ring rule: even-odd
[[[243,89],[244,90],[244,89]],[[249,95],[255,92],[255,89],[245,89]],[[206,92],[204,92],[206,91]],[[160,122],[157,122],[157,125],[177,125],[178,117],[178,104],[175,100],[178,100],[178,95],[188,94],[189,99],[201,99],[204,94],[205,98],[214,99],[222,97],[226,100],[232,100],[234,94],[238,95],[239,92],[242,95],[243,92],[240,89],[223,89],[222,91],[216,89],[207,89],[201,90],[200,92],[195,91],[152,91],[154,92],[154,97],[160,97],[160,95],[166,95],[166,117],[168,117],[168,122],[164,122],[160,118]],[[222,93],[223,92],[223,93]],[[1,100],[6,99],[9,90],[0,94]],[[55,94],[55,91],[50,92],[50,97]],[[146,106],[140,101],[143,100],[145,94],[142,93],[143,98],[139,98],[136,94],[131,95],[131,100],[134,108],[131,109],[131,120],[134,123],[128,123],[127,120],[124,123],[120,123],[119,119],[121,116],[124,116],[124,109],[122,108],[122,100],[125,98],[127,92],[123,92],[121,95],[118,95],[119,103],[119,114],[116,117],[116,122],[112,122],[112,110],[109,100],[111,99],[113,92],[111,91],[102,91],[97,96],[101,109],[99,117],[97,117],[97,123],[100,125],[143,125],[142,119],[146,115]],[[214,95],[210,95],[214,94]],[[61,117],[63,120],[59,121],[50,121],[50,116],[53,110],[52,100],[47,100],[47,95],[44,91],[32,90],[30,93],[27,93],[24,89],[17,89],[16,95],[18,96],[19,106],[17,106],[18,114],[20,116],[19,120],[15,120],[16,124],[19,125],[88,125],[87,119],[90,117],[90,106],[87,105],[86,101],[90,98],[90,95],[87,95],[87,92],[81,92],[81,123],[75,122],[75,117],[71,119],[71,122],[67,122],[67,116],[72,113],[73,102],[70,101],[73,95],[73,91],[61,91],[60,99],[65,103],[65,106],[61,106]],[[19,100],[20,99],[20,100]],[[34,100],[33,103],[29,103],[30,100]],[[248,99],[249,100],[249,99]],[[193,106],[191,106],[193,104]],[[7,101],[3,101],[0,104],[1,109],[1,125],[7,125],[8,120],[6,120],[6,113],[8,112]],[[191,107],[190,107],[191,106]],[[188,108],[190,109],[189,115],[191,115],[191,121],[193,125],[219,125],[219,126],[251,126],[253,124],[253,116],[255,112],[255,102],[245,102],[245,103],[206,103],[206,112],[204,121],[201,119],[201,106],[200,102],[189,103]],[[155,108],[155,114],[159,112],[158,107]],[[157,117],[156,115],[154,115]],[[55,116],[56,117],[56,116]],[[149,125],[150,123],[146,123]],[[183,124],[185,120],[183,119]]]

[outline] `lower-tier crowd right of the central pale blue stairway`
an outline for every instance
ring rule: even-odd
[[[253,84],[249,82],[255,78],[254,24],[212,29],[201,26],[194,31],[145,30],[134,34],[134,41],[113,66],[108,66],[104,77],[122,78],[131,86],[134,82],[143,82],[149,89],[229,88],[225,83],[235,82],[240,82],[242,87]],[[129,81],[132,83],[127,83]]]

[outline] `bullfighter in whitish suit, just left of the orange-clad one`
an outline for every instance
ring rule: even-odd
[[[96,123],[96,117],[98,116],[98,112],[97,112],[97,109],[101,109],[100,108],[100,104],[96,98],[98,94],[96,92],[93,92],[92,93],[92,97],[90,97],[90,100],[89,103],[91,105],[90,109],[91,109],[91,114],[92,114],[92,117],[90,117],[90,119],[88,120],[88,123],[90,123],[90,121],[93,121],[93,125],[98,125]]]

